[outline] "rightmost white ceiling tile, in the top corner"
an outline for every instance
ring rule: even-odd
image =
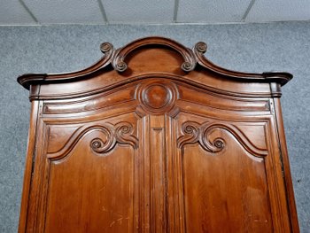
[[[256,0],[245,21],[309,20],[310,0]]]

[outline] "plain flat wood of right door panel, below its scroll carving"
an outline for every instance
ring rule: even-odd
[[[226,143],[217,154],[200,145],[183,150],[187,232],[272,232],[264,159],[233,138]]]

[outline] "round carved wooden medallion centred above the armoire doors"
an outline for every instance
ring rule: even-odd
[[[163,114],[174,110],[179,92],[172,82],[148,82],[136,89],[137,105],[146,113]]]

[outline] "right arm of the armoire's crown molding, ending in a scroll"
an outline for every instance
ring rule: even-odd
[[[226,77],[234,78],[244,82],[278,82],[281,84],[281,86],[285,85],[293,77],[292,74],[285,72],[265,72],[262,74],[255,74],[236,72],[233,70],[225,69],[221,66],[216,66],[207,58],[205,58],[204,53],[206,50],[207,45],[203,42],[196,43],[193,49],[198,64],[208,70],[213,71],[216,74],[221,74]]]

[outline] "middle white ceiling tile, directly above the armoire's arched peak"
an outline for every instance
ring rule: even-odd
[[[102,0],[112,23],[165,23],[174,19],[172,0]]]

